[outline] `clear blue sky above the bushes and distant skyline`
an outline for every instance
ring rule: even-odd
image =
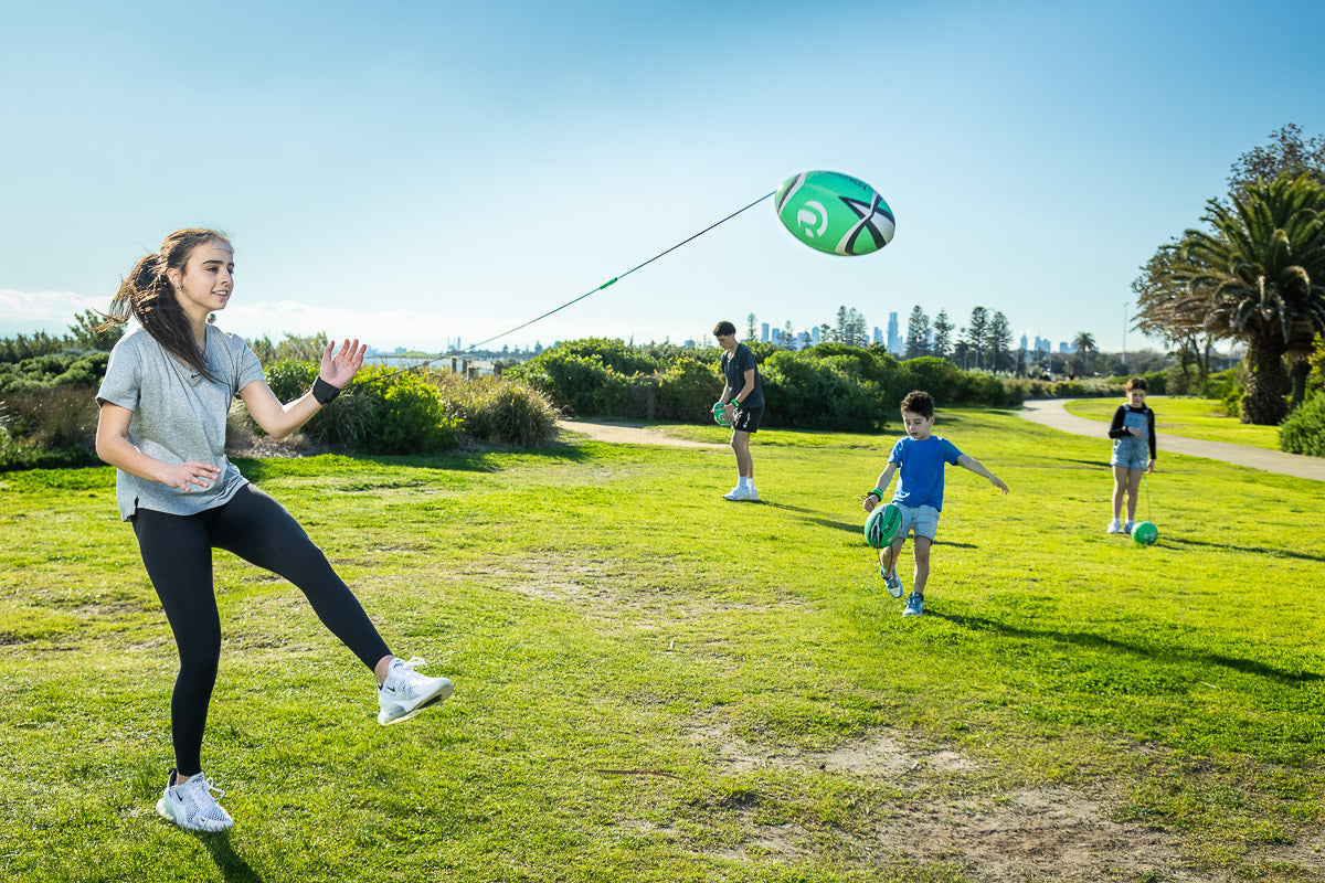
[[[920,304],[1116,349],[1230,164],[1325,132],[1316,0],[478,5],[0,0],[0,335],[207,225],[228,330],[468,344],[825,168],[889,201],[886,249],[763,203],[497,346]]]

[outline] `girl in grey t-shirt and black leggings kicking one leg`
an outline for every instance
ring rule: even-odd
[[[281,404],[253,351],[208,323],[235,291],[235,252],[215,230],[176,230],[132,269],[111,302],[110,322],[140,330],[115,344],[97,392],[97,454],[115,466],[121,516],[138,537],[162,601],[179,675],[171,695],[175,768],[156,812],[196,831],[233,821],[203,774],[203,729],[221,653],[212,590],[212,549],[223,548],[297,585],[318,618],[378,676],[378,723],[407,720],[450,695],[445,678],[415,671],[387,649],[326,556],[274,499],[225,458],[225,414],[244,400],[273,437],[302,426],[350,383],[366,347],[346,340],[322,353],[313,389]]]

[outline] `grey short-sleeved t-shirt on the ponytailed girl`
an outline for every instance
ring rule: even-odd
[[[170,515],[196,515],[228,502],[248,483],[225,457],[225,414],[240,389],[262,380],[262,365],[238,335],[207,326],[208,380],[156,343],[142,328],[110,351],[97,401],[134,412],[129,441],[167,463],[197,461],[221,470],[207,490],[182,491],[123,470],[115,474],[115,502],[123,520],[140,508]]]

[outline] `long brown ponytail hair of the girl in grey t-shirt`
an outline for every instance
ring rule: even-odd
[[[207,369],[203,348],[197,346],[188,316],[175,299],[174,286],[166,275],[166,270],[183,273],[193,249],[204,242],[231,245],[224,233],[205,228],[175,230],[167,236],[159,252],[135,263],[121,281],[119,291],[111,299],[110,312],[101,327],[121,326],[132,316],[170,353],[208,380],[216,380]]]

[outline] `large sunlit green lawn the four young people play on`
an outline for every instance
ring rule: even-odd
[[[1097,440],[938,432],[1012,492],[949,470],[922,618],[860,535],[890,436],[759,433],[762,504],[721,449],[241,463],[456,695],[378,727],[219,552],[225,835],[152,809],[175,651],[113,471],[0,475],[0,879],[1321,879],[1325,485],[1170,455],[1145,548]]]

